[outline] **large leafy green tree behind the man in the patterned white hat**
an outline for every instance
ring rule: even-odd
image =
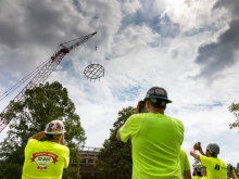
[[[8,137],[0,143],[0,178],[21,178],[24,164],[24,149],[33,135],[45,130],[46,124],[53,119],[62,119],[67,131],[65,143],[70,148],[71,157],[79,163],[79,149],[85,144],[85,130],[80,118],[75,113],[75,105],[68,98],[66,88],[58,81],[39,85],[25,91],[25,100],[10,102],[7,113],[0,114],[9,124]],[[74,155],[74,156],[73,156]],[[76,179],[79,165],[68,167],[64,179]],[[74,177],[71,177],[74,176]]]

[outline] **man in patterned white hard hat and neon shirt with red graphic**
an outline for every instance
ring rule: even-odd
[[[61,179],[68,166],[70,150],[64,145],[65,128],[61,120],[52,120],[45,131],[28,139],[24,154],[22,179]],[[47,141],[39,141],[47,137]]]

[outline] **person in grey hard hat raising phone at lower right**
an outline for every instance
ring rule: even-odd
[[[197,154],[196,150],[202,155]],[[190,151],[190,155],[200,161],[206,167],[206,175],[209,179],[227,179],[227,166],[217,157],[219,154],[219,146],[216,143],[209,143],[205,154],[201,145],[196,143]]]

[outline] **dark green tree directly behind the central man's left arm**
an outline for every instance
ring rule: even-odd
[[[118,112],[118,118],[110,129],[110,138],[103,143],[98,155],[97,168],[102,179],[130,179],[131,178],[131,143],[116,140],[117,129],[133,115],[135,108],[129,106]]]

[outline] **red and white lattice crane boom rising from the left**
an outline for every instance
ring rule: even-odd
[[[61,43],[59,48],[55,50],[54,54],[48,60],[48,62],[37,71],[37,74],[33,77],[33,79],[23,88],[23,90],[13,99],[13,102],[22,102],[25,100],[25,91],[28,89],[34,89],[39,84],[43,82],[50,74],[54,71],[54,68],[61,63],[62,59],[71,50],[75,49],[76,47],[83,44],[87,40],[89,40],[97,31],[87,35],[85,37],[74,39],[64,43]],[[99,66],[99,64],[97,65]],[[103,71],[101,71],[101,74]],[[99,74],[98,74],[99,76]],[[102,76],[102,75],[101,75]],[[100,76],[100,77],[101,77]],[[10,104],[2,111],[5,113],[10,107]],[[0,132],[8,126],[10,122],[5,120],[4,118],[0,117]]]

